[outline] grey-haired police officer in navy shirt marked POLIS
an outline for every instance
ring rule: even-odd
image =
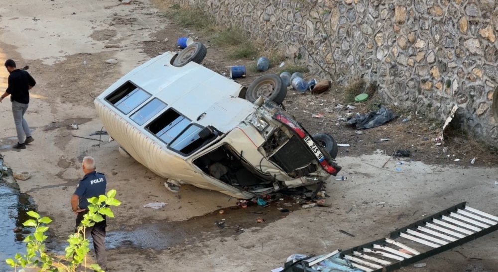
[[[83,158],[81,169],[85,177],[78,183],[73,196],[71,197],[71,207],[76,214],[76,228],[83,220],[83,215],[88,213],[88,198],[99,197],[106,194],[106,177],[104,174],[95,172],[95,159],[93,157]],[[106,238],[106,220],[95,223],[93,227],[87,228],[85,237],[88,239],[92,235],[94,242],[97,264],[106,270],[107,254],[104,240]]]

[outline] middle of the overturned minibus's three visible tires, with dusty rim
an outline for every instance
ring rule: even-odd
[[[287,95],[287,87],[275,74],[268,74],[255,79],[248,87],[246,99],[256,101],[259,96],[266,96],[277,104],[281,104]]]

